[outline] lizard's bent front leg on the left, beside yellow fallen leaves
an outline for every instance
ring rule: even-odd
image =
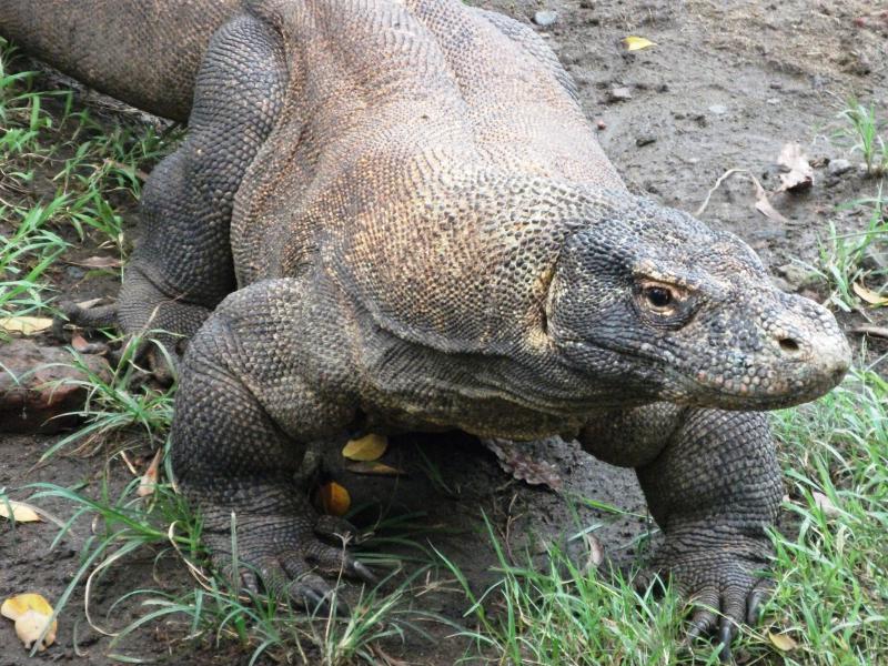
[[[183,361],[172,465],[216,568],[313,610],[332,593],[319,574],[373,575],[333,545],[350,526],[319,518],[297,481],[305,443],[343,431],[353,411],[331,400],[334,381],[319,390],[303,380],[303,296],[287,280],[256,283],[201,327]]]

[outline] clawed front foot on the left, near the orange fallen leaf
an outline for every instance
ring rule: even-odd
[[[210,521],[204,527],[204,543],[213,554],[214,566],[229,581],[239,581],[252,593],[262,587],[309,613],[329,615],[334,610],[347,612],[347,607],[341,601],[333,603],[335,588],[323,575],[331,578],[343,575],[371,585],[377,582],[346,549],[357,532],[342,518],[317,517],[307,505],[296,516],[236,514],[235,517],[236,539],[231,538],[230,525],[212,529],[214,522]],[[233,544],[238,549],[236,576]]]

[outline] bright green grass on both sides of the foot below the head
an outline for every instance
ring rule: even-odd
[[[818,402],[774,418],[787,480],[787,534],[773,533],[777,589],[735,655],[761,664],[879,664],[888,659],[888,382],[855,372]],[[827,498],[827,500],[824,500]],[[488,526],[490,527],[490,526]],[[619,572],[583,572],[551,548],[544,571],[511,563],[493,529],[502,578],[481,594],[445,555],[474,628],[466,663],[715,664],[716,646],[682,647],[686,610],[634,589]],[[770,635],[795,642],[781,652]],[[777,639],[779,642],[779,638]]]

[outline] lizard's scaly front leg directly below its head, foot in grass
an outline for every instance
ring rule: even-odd
[[[598,420],[582,438],[604,460],[635,466],[666,535],[653,567],[695,602],[689,637],[717,628],[727,657],[738,624],[756,620],[768,592],[757,572],[768,566],[766,529],[783,485],[767,417],[658,403]]]

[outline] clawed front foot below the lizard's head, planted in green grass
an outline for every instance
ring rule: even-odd
[[[743,541],[743,539],[740,539]],[[667,542],[667,546],[668,546]],[[767,544],[748,544],[750,547],[704,547],[655,558],[644,571],[636,585],[647,588],[659,577],[674,578],[678,593],[687,599],[693,610],[687,629],[687,643],[699,637],[716,635],[722,645],[722,662],[731,659],[730,644],[743,623],[758,622],[763,603],[770,596],[773,582],[756,572],[764,569],[769,551]],[[754,547],[758,547],[758,553]]]

